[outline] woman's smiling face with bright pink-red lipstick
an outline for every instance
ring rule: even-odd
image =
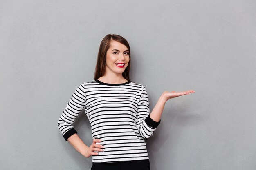
[[[106,74],[122,74],[130,60],[129,50],[120,42],[112,40],[106,54]]]

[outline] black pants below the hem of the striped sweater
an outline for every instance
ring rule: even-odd
[[[91,170],[150,170],[149,160],[92,163]]]

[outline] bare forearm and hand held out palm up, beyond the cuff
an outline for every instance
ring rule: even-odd
[[[167,100],[172,99],[174,97],[182,96],[182,95],[189,95],[189,93],[195,93],[195,91],[193,90],[184,91],[184,92],[165,91],[164,93],[162,93],[162,95],[157,101],[157,104],[155,105],[152,112],[150,113],[151,119],[153,119],[156,122],[160,121],[163,110],[164,110],[164,105],[167,102]]]

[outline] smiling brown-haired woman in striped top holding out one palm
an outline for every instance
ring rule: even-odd
[[[164,92],[149,114],[146,88],[130,81],[130,46],[119,35],[103,38],[94,80],[80,84],[59,121],[63,137],[85,157],[92,157],[92,170],[149,170],[144,138],[160,123],[167,100],[195,91]],[[87,146],[72,126],[84,109],[93,142]]]

